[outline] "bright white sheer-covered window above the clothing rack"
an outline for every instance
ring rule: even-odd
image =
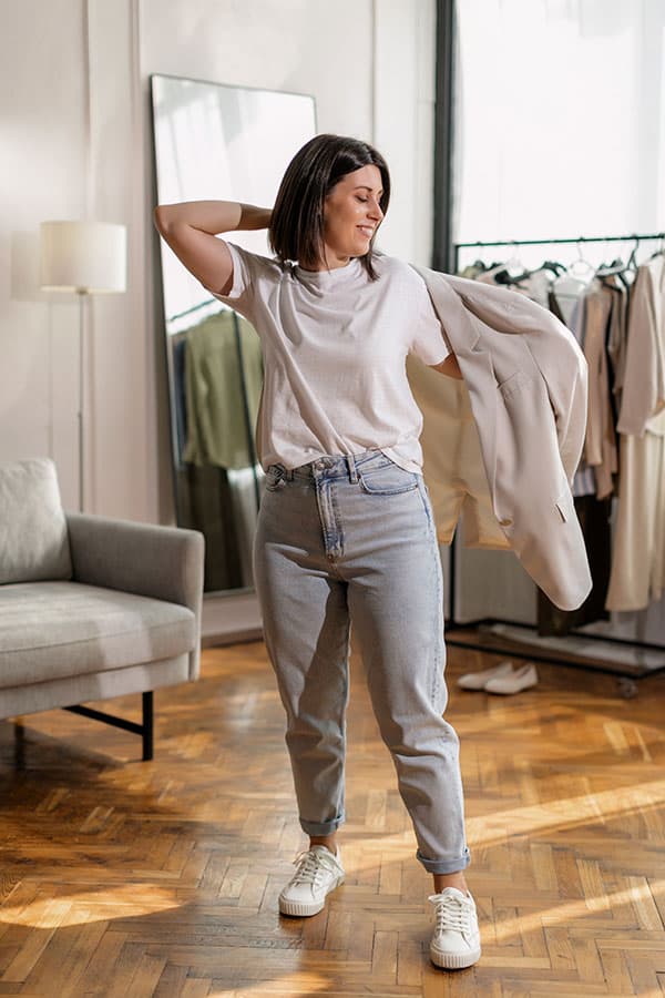
[[[458,0],[458,241],[665,227],[663,0]]]

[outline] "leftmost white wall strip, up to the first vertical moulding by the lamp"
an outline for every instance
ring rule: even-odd
[[[0,459],[52,454],[71,498],[76,312],[40,294],[37,238],[85,207],[80,7],[54,0],[34,32],[43,4],[25,0],[0,32]]]

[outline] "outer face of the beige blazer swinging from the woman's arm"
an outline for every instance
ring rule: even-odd
[[[469,389],[492,508],[522,564],[562,610],[591,573],[571,486],[586,428],[586,361],[523,295],[416,267]]]

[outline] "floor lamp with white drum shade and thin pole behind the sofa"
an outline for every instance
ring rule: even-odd
[[[41,288],[79,298],[79,510],[85,500],[85,298],[126,291],[126,228],[105,222],[42,222]]]

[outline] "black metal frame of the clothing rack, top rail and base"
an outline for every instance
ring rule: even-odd
[[[553,238],[553,240],[495,240],[492,242],[471,242],[471,243],[453,243],[453,271],[454,273],[459,273],[459,261],[460,261],[460,251],[462,249],[471,249],[471,248],[489,248],[494,246],[551,246],[551,245],[580,245],[582,243],[635,243],[635,247],[642,242],[653,242],[655,240],[665,241],[665,233],[648,233],[648,234],[638,234],[632,233],[630,235],[617,236],[576,236],[574,238]],[[661,247],[663,248],[663,247]],[[589,660],[585,660],[583,656],[575,655],[573,651],[570,653],[563,649],[559,649],[559,654],[556,654],[555,650],[549,651],[548,649],[540,649],[538,644],[525,646],[524,649],[513,648],[512,644],[516,640],[514,638],[502,638],[500,634],[492,633],[492,628],[497,625],[505,625],[510,628],[519,628],[524,631],[535,632],[534,642],[538,642],[539,637],[536,634],[536,629],[533,624],[525,624],[522,621],[514,620],[505,620],[501,618],[481,618],[479,620],[471,620],[467,622],[460,622],[456,620],[456,590],[457,590],[457,564],[459,554],[457,552],[458,544],[458,534],[457,531],[452,538],[450,544],[450,561],[449,561],[449,584],[448,591],[450,593],[449,597],[449,614],[446,624],[447,631],[447,643],[457,648],[467,648],[472,651],[482,651],[489,654],[502,655],[504,658],[514,658],[514,659],[523,659],[528,661],[539,661],[539,662],[550,662],[555,665],[566,665],[569,668],[574,669],[583,669],[593,672],[603,672],[610,675],[615,675],[620,682],[620,692],[622,695],[626,697],[634,696],[637,692],[636,680],[644,679],[647,675],[654,675],[658,672],[663,672],[665,670],[665,662],[663,665],[656,665],[654,668],[648,668],[647,665],[628,665],[621,663],[611,663],[606,661],[602,662],[602,656],[593,656]],[[484,632],[485,640],[478,641],[468,641],[463,638],[456,638],[456,631],[477,631]],[[646,641],[638,640],[627,640],[624,638],[614,638],[607,637],[605,634],[598,633],[590,633],[587,631],[583,631],[579,628],[571,629],[569,632],[569,637],[575,640],[583,639],[584,641],[598,641],[610,645],[616,645],[618,648],[624,646],[626,649],[640,650],[645,652],[662,652],[665,656],[665,645],[664,644],[654,644]],[[492,643],[493,639],[493,643]],[[555,638],[548,639],[548,641],[554,640],[556,643],[565,644],[566,638]],[[503,642],[503,643],[502,643]],[[509,643],[507,643],[509,642]],[[529,644],[529,639],[526,638],[525,643]]]

